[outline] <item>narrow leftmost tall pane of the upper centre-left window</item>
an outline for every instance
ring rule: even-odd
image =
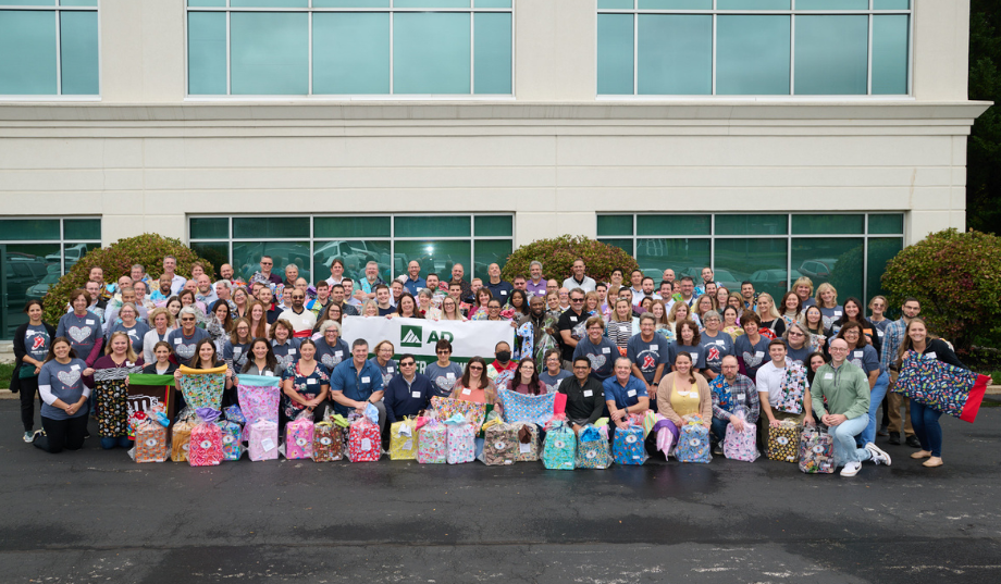
[[[188,94],[226,94],[226,15],[188,13]]]

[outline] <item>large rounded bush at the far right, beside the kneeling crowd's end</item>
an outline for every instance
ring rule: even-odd
[[[891,307],[913,296],[932,333],[964,352],[1001,346],[1001,238],[946,229],[906,247],[887,263],[882,287]]]

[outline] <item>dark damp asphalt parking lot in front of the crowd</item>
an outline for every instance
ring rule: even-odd
[[[97,438],[24,444],[16,400],[0,420],[4,583],[1001,582],[997,407],[943,418],[942,468],[879,438],[893,465],[852,479],[718,458],[136,464]]]

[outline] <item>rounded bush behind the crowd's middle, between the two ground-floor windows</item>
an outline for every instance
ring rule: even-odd
[[[611,271],[622,269],[626,282],[629,273],[639,268],[637,260],[621,248],[609,246],[586,237],[561,235],[555,239],[539,239],[521,246],[508,258],[501,276],[510,281],[517,275],[529,276],[529,264],[542,262],[546,278],[563,282],[570,277],[570,266],[578,258],[584,260],[586,274],[596,282],[608,282]]]

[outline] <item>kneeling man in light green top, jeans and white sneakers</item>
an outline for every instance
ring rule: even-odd
[[[843,338],[831,341],[830,357],[830,363],[814,375],[810,392],[814,411],[835,439],[835,465],[844,467],[841,476],[858,474],[865,460],[889,467],[890,455],[875,444],[855,446],[855,436],[862,434],[869,419],[869,382],[865,372],[845,361],[848,343]]]

